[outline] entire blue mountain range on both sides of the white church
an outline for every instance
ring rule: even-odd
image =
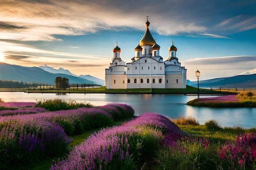
[[[0,79],[16,80],[22,82],[47,83],[54,84],[56,77],[66,77],[70,84],[99,84],[105,85],[103,79],[93,77],[91,75],[74,75],[64,68],[55,69],[50,66],[24,67],[0,63]],[[190,80],[186,81],[189,86],[197,87],[198,82]],[[256,68],[245,71],[240,75],[232,77],[222,77],[199,81],[200,88],[255,88],[256,87]]]

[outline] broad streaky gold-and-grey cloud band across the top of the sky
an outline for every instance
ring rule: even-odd
[[[21,41],[60,41],[54,35],[84,35],[103,29],[144,30],[145,26],[141,23],[146,21],[147,15],[150,15],[150,21],[154,21],[150,28],[159,35],[191,33],[193,36],[226,38],[220,33],[222,29],[245,31],[255,28],[255,18],[244,15],[218,23],[211,22],[209,18],[220,16],[216,11],[226,13],[226,10],[231,9],[217,5],[217,2],[203,0],[163,0],[161,3],[153,0],[147,3],[137,0],[5,0],[0,2],[0,7],[0,21],[6,24],[0,26],[5,35],[0,38]],[[219,28],[218,32],[211,30],[214,24],[215,28]],[[16,30],[10,30],[7,26]]]

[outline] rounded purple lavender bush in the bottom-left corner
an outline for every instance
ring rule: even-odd
[[[60,125],[44,118],[16,117],[0,129],[1,170],[31,166],[44,157],[63,154],[71,139]]]

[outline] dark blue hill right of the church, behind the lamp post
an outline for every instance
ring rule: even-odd
[[[198,82],[191,82],[187,80],[187,85],[197,87]],[[216,87],[229,87],[229,88],[255,88],[256,87],[256,74],[250,75],[236,75],[233,77],[222,77],[216,79],[208,79],[199,81],[201,88],[216,88]]]

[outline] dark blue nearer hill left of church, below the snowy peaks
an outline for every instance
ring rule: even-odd
[[[62,73],[49,73],[38,67],[24,67],[0,63],[0,79],[2,80],[55,84],[54,81],[56,77],[66,77],[69,79],[70,84],[98,84],[97,82],[82,77]]]

